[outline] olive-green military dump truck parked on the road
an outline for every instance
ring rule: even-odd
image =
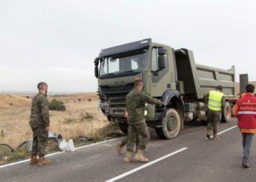
[[[223,86],[226,96],[222,121],[231,119],[235,102],[235,66],[222,70],[195,63],[193,52],[143,39],[100,51],[94,60],[98,78],[99,107],[109,121],[119,123],[127,134],[125,96],[134,87],[134,78],[144,82],[145,94],[161,99],[158,107],[145,103],[145,120],[156,134],[165,139],[176,137],[184,122],[206,124],[204,95]]]

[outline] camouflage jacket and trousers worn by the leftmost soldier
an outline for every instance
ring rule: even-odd
[[[32,99],[30,126],[33,132],[32,154],[45,156],[48,143],[46,127],[50,124],[47,95],[39,92]]]

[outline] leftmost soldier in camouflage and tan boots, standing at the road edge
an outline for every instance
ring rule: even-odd
[[[30,165],[48,165],[52,161],[45,159],[45,148],[48,143],[48,131],[50,129],[49,108],[47,99],[47,83],[40,82],[37,85],[38,94],[32,99],[30,126],[33,132],[32,155]],[[37,154],[39,159],[37,160]]]

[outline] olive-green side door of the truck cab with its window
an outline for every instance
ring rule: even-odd
[[[171,72],[169,71],[169,56],[172,56],[171,52],[169,52],[168,48],[166,48],[166,65],[167,67],[164,70],[158,71],[158,48],[152,48],[151,54],[151,96],[152,97],[161,97],[166,90],[172,89],[171,84]],[[174,77],[174,76],[173,76]]]

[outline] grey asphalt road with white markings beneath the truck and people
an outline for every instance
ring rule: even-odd
[[[236,125],[235,119],[220,125],[222,132]],[[49,156],[52,164],[37,167],[28,162],[0,168],[0,181],[256,181],[256,139],[251,148],[251,168],[243,168],[239,128],[206,140],[206,126],[189,124],[171,140],[151,133],[147,147],[150,163],[123,163],[111,141]],[[117,178],[115,178],[117,177]]]

